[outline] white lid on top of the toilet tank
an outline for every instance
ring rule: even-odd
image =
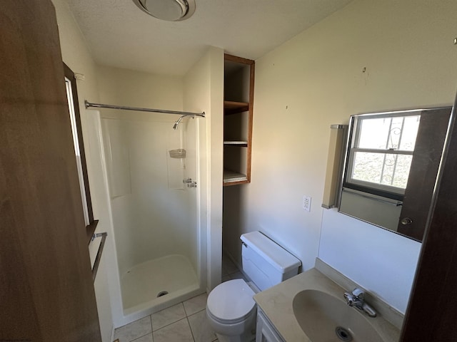
[[[283,247],[273,242],[261,232],[250,232],[242,234],[240,237],[248,248],[252,248],[255,252],[261,255],[263,259],[278,269],[281,273],[286,273],[291,269],[301,265],[301,261],[292,254],[283,249]]]

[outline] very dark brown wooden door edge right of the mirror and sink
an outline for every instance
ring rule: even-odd
[[[430,223],[426,228],[401,342],[457,341],[457,120],[451,117]]]

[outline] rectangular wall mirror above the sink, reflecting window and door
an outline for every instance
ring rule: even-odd
[[[338,211],[421,242],[451,107],[352,115]]]

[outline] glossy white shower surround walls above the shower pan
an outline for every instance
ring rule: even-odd
[[[154,113],[102,115],[121,276],[170,254],[184,255],[198,270],[196,189],[182,184],[186,177],[196,179],[195,125],[184,120],[175,131],[173,119]],[[186,127],[190,133],[181,140]],[[183,161],[169,157],[176,148],[186,149]]]

